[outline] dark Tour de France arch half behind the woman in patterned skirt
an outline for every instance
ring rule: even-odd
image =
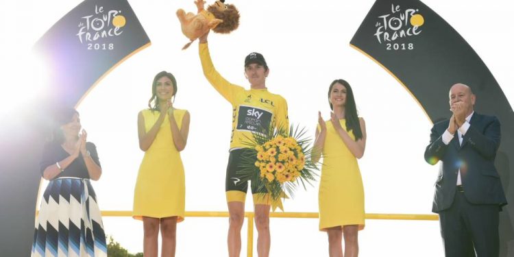
[[[30,255],[42,126],[51,110],[77,105],[117,64],[149,45],[127,0],[82,1],[38,40],[35,51],[49,73],[48,84],[42,85],[49,98],[30,103],[2,124],[7,134],[0,141],[1,256]]]

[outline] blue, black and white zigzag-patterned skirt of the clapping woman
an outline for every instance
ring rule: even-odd
[[[89,180],[49,182],[36,217],[32,256],[107,256],[106,234]]]

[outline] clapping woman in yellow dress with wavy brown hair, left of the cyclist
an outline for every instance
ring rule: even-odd
[[[149,109],[138,114],[139,148],[145,157],[134,189],[132,217],[143,220],[145,256],[157,256],[159,230],[162,256],[175,256],[177,223],[184,220],[185,210],[180,151],[186,147],[190,116],[173,106],[177,82],[171,73],[158,73],[151,92]]]

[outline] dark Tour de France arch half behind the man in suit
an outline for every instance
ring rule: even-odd
[[[456,83],[472,87],[477,112],[500,119],[502,142],[496,167],[510,203],[500,212],[500,256],[514,256],[513,250],[509,251],[514,243],[514,190],[509,190],[514,172],[510,165],[514,160],[514,113],[478,54],[441,16],[416,0],[376,1],[350,45],[391,73],[433,123],[451,116],[448,91]],[[427,143],[429,134],[419,132]]]

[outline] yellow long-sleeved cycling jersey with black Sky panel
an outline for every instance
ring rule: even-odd
[[[216,71],[207,43],[199,44],[199,55],[204,75],[227,101],[232,103],[232,136],[230,149],[244,148],[252,132],[267,132],[269,128],[289,130],[287,102],[284,97],[269,93],[267,88],[246,90],[231,84]]]

